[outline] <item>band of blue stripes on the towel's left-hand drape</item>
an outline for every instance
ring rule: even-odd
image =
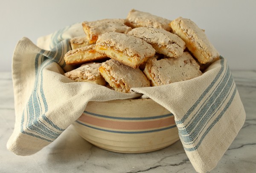
[[[43,69],[53,61],[43,56],[44,53],[45,51],[42,50],[35,56],[34,90],[29,97],[29,102],[26,109],[23,111],[20,130],[21,133],[52,142],[64,131],[64,129],[59,128],[45,115],[45,113],[48,111],[48,105],[43,90]],[[51,52],[47,52],[48,56],[52,56],[50,54]],[[60,54],[55,53],[52,58],[59,55]],[[24,124],[25,116],[27,117],[26,124]]]

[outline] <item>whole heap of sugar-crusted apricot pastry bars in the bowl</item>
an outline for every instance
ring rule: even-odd
[[[83,22],[86,35],[70,40],[64,75],[129,93],[198,77],[219,58],[204,30],[189,19],[167,20],[132,9],[126,19]]]

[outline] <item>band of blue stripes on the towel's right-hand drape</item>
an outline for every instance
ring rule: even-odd
[[[213,82],[207,87],[207,90],[204,91],[204,93],[199,97],[197,102],[195,102],[195,104],[185,114],[183,119],[176,122],[176,124],[179,124],[177,127],[179,130],[180,139],[184,144],[184,149],[187,151],[196,150],[201,145],[205,136],[207,136],[209,131],[223,116],[223,114],[233,101],[233,98],[236,94],[236,86],[234,84],[233,77],[230,73],[230,69],[228,68],[227,65],[224,65],[224,59],[221,57],[221,69],[218,74],[223,73],[225,68],[226,71],[221,81],[218,84],[215,84],[219,77],[221,77],[221,75],[217,75]],[[212,87],[214,87],[214,90],[212,91],[212,93],[209,93],[209,90]],[[231,92],[232,90],[234,91]],[[204,96],[206,96],[206,94],[209,95],[206,101],[204,101],[203,104],[200,104],[201,106],[198,109],[198,111],[192,115],[191,113],[197,108],[197,106],[202,101]],[[227,98],[229,97],[230,100],[228,101],[227,105],[225,105],[225,107],[222,108],[224,106],[224,102],[226,102]],[[221,108],[223,110],[220,110]],[[219,115],[216,114],[218,111],[221,112]],[[183,126],[181,126],[181,124],[184,123],[189,116],[191,116],[192,119],[189,120],[189,122],[187,122],[186,124],[183,124]],[[211,124],[209,124],[212,118],[215,119]],[[205,130],[205,128],[207,129]],[[196,144],[195,141],[198,139],[201,133],[204,134],[201,136],[199,142]],[[193,145],[195,147],[187,148],[186,145]]]

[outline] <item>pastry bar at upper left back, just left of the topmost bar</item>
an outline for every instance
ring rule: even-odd
[[[128,33],[131,31],[131,27],[125,25],[125,19],[103,19],[93,22],[84,21],[82,23],[85,34],[87,34],[87,40],[90,43],[96,43],[100,34],[106,32],[116,31],[119,33]]]

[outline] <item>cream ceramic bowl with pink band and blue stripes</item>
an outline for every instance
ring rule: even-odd
[[[73,123],[88,142],[118,153],[145,153],[179,140],[174,116],[152,99],[89,102]]]

